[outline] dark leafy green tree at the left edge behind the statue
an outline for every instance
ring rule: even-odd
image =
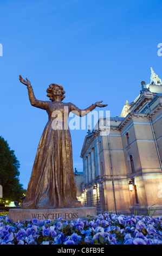
[[[20,162],[14,150],[10,150],[7,141],[0,136],[0,185],[3,187],[3,200],[20,201],[23,197],[23,185],[18,176]]]

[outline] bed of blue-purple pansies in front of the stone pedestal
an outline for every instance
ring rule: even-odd
[[[11,222],[0,217],[1,245],[158,245],[162,216],[99,214],[67,221]]]

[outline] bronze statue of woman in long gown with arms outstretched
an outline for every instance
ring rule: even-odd
[[[35,98],[33,88],[29,80],[20,76],[20,82],[28,88],[29,100],[32,106],[45,109],[49,120],[44,128],[31,177],[28,184],[22,209],[55,209],[75,208],[81,203],[76,198],[76,185],[74,181],[72,141],[69,129],[59,129],[57,124],[53,127],[53,120],[58,115],[53,112],[59,111],[64,115],[64,109],[70,112],[77,111],[83,116],[92,111],[96,106],[106,107],[100,102],[84,109],[77,108],[73,103],[64,103],[64,90],[59,84],[50,84],[47,96],[50,101],[41,101]],[[64,118],[61,120],[64,121]],[[63,124],[64,125],[64,124]]]

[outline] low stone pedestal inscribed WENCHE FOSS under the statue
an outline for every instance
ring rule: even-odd
[[[62,217],[64,220],[76,220],[76,218],[96,215],[95,207],[62,208],[62,209],[10,209],[9,220],[22,222],[25,220],[57,220]]]

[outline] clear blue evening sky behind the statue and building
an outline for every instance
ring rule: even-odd
[[[35,96],[48,100],[50,83],[61,84],[64,102],[86,108],[103,100],[111,117],[150,82],[152,66],[162,78],[160,0],[28,0],[0,2],[0,135],[20,161],[27,188],[46,111],[32,107],[19,75]],[[100,109],[98,109],[100,110]],[[71,131],[74,168],[87,130]]]

